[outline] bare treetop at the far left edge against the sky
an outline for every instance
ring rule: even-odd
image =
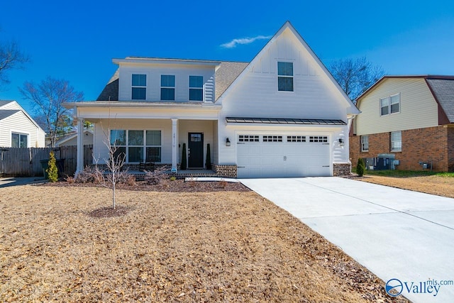
[[[0,43],[0,85],[9,83],[6,72],[15,68],[23,68],[30,58],[19,48],[16,41]]]

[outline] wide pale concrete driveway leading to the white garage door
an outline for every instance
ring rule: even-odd
[[[453,302],[454,199],[340,177],[240,181],[411,301]]]

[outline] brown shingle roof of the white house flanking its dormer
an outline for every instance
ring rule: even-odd
[[[168,60],[168,59],[166,59]],[[248,66],[248,62],[221,62],[221,65],[216,70],[216,92],[215,100],[217,100],[223,92],[232,84],[232,82],[240,75],[241,72]],[[116,70],[106,84],[96,101],[118,101],[118,77],[120,69]]]

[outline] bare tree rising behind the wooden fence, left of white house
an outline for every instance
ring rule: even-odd
[[[24,99],[33,102],[37,121],[43,121],[50,144],[55,147],[57,135],[67,133],[72,126],[72,113],[62,104],[64,102],[81,101],[82,92],[77,92],[67,80],[47,77],[39,84],[25,82],[19,88]]]

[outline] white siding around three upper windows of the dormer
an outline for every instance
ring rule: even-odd
[[[132,101],[131,79],[133,74],[147,75],[145,100],[161,101],[161,75],[175,75],[175,101],[189,101],[189,76],[204,77],[204,101],[214,101],[214,67],[188,67],[185,65],[137,65],[121,64],[118,80],[118,99]],[[168,102],[168,101],[167,101]]]

